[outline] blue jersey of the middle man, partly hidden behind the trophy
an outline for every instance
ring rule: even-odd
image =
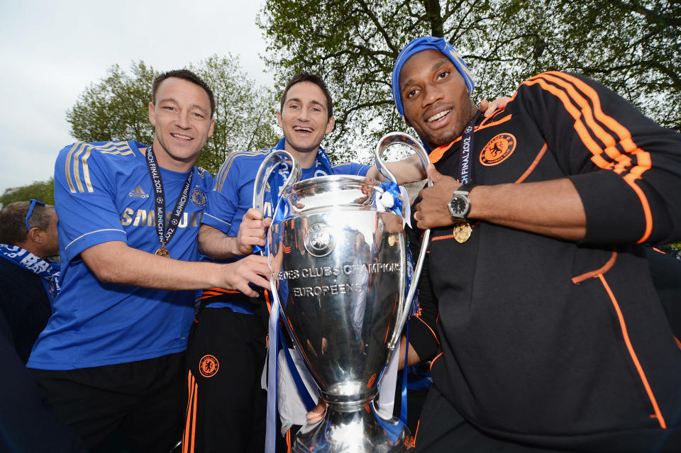
[[[241,219],[250,208],[253,208],[253,186],[258,168],[265,157],[272,151],[283,150],[284,139],[279,140],[277,146],[256,151],[233,152],[220,167],[215,177],[213,190],[209,192],[209,203],[206,214],[201,223],[221,230],[228,236],[236,236],[239,232]],[[321,151],[323,152],[323,150]],[[318,158],[312,167],[304,168],[301,179],[327,176],[328,174],[356,174],[366,176],[371,168],[369,165],[348,164],[334,165],[328,168],[325,159]],[[331,170],[331,172],[329,171]],[[265,217],[272,217],[272,203],[265,197],[262,211]],[[238,303],[211,303],[211,307],[229,306],[239,313],[253,313],[252,308]]]

